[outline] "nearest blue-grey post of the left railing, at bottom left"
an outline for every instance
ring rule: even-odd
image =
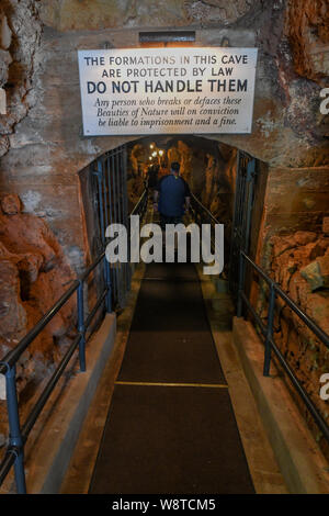
[[[9,420],[9,444],[15,450],[15,483],[19,494],[26,494],[24,472],[24,448],[20,427],[15,366],[5,372],[7,411]]]

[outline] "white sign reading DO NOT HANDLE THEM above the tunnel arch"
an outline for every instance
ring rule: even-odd
[[[78,54],[86,136],[251,132],[257,48]]]

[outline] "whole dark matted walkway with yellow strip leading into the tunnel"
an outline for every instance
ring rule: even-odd
[[[89,492],[254,492],[191,263],[146,267]]]

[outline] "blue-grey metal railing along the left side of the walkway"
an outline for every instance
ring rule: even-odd
[[[147,190],[143,192],[137,204],[135,205],[132,214],[144,217],[147,209]],[[84,285],[91,272],[103,263],[103,289],[95,301],[93,307],[90,310],[88,316],[84,313]],[[113,273],[113,271],[112,271]],[[5,400],[9,422],[9,445],[4,452],[4,458],[0,462],[0,485],[5,480],[12,465],[14,465],[15,485],[19,494],[26,493],[25,471],[24,471],[24,446],[31,430],[34,427],[41,412],[43,411],[46,402],[48,401],[52,392],[54,391],[58,380],[63,375],[68,362],[70,361],[76,349],[79,349],[79,366],[80,371],[86,371],[86,335],[91,333],[91,325],[94,321],[97,313],[102,305],[105,306],[106,313],[111,313],[113,304],[112,292],[112,273],[109,261],[106,260],[105,251],[103,251],[93,263],[84,271],[84,273],[72,282],[69,289],[63,296],[45,313],[38,323],[23,337],[18,346],[9,351],[0,360],[0,374],[5,377]],[[34,339],[47,326],[53,317],[59,310],[72,298],[77,295],[77,336],[69,346],[68,350],[61,358],[56,370],[48,380],[46,386],[39,394],[38,400],[32,407],[29,416],[23,425],[20,424],[19,415],[19,399],[16,389],[16,363],[22,354],[29,348]]]

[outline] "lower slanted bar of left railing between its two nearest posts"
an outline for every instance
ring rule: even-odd
[[[77,335],[75,340],[72,341],[71,346],[69,347],[68,351],[63,357],[58,368],[53,373],[52,378],[49,379],[47,385],[43,390],[41,396],[38,397],[37,402],[35,403],[33,410],[29,414],[24,425],[22,426],[22,438],[25,441],[30,431],[32,430],[38,415],[41,414],[42,410],[44,408],[48,397],[50,396],[56,383],[58,382],[59,378],[61,377],[66,366],[68,364],[69,360],[71,359],[76,348],[79,345],[81,335]]]

